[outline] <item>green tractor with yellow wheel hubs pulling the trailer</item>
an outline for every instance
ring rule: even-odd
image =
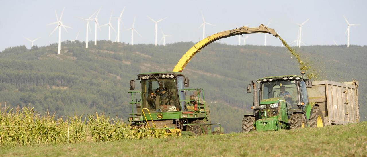
[[[252,81],[247,85],[247,93],[254,90],[254,106],[251,107],[252,114],[244,115],[243,132],[325,125],[320,106],[308,99],[307,90],[312,87],[312,82],[304,77],[304,72],[302,76],[259,78],[257,83],[259,85]]]

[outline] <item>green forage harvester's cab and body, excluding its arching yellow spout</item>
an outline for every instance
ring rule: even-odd
[[[209,106],[204,100],[204,90],[189,87],[189,78],[181,72],[138,74],[141,91],[129,92],[132,96],[132,113],[128,117],[137,127],[166,128],[181,134],[211,134]],[[130,81],[135,90],[135,80]],[[219,125],[220,124],[216,124]],[[223,128],[216,128],[222,130]],[[175,131],[175,132],[176,132]],[[218,131],[215,131],[218,132]]]

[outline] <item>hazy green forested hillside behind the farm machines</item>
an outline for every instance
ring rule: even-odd
[[[126,118],[131,111],[127,92],[131,79],[145,72],[171,71],[191,42],[128,45],[98,41],[65,41],[61,55],[57,44],[46,47],[11,47],[0,53],[0,102],[18,106],[29,103],[39,112],[56,116],[105,113]],[[367,116],[367,47],[304,46],[295,48],[319,77],[313,80],[359,80],[361,120]],[[190,87],[204,88],[212,123],[226,131],[239,131],[252,94],[246,85],[264,76],[299,74],[297,61],[284,47],[212,43],[186,66]]]

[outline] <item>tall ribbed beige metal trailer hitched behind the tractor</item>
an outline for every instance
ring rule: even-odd
[[[307,94],[321,108],[325,125],[359,122],[358,81],[312,81]]]

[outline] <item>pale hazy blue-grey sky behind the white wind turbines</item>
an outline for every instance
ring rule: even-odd
[[[57,43],[58,31],[51,36],[49,34],[56,25],[46,26],[48,23],[56,22],[55,10],[60,16],[62,8],[65,11],[62,17],[64,25],[72,27],[66,33],[62,29],[61,40],[73,40],[80,31],[78,40],[86,40],[86,22],[76,17],[88,18],[100,7],[98,16],[99,24],[108,23],[111,11],[113,17],[118,17],[126,7],[121,25],[120,40],[125,43],[131,42],[131,32],[125,29],[131,28],[134,17],[136,17],[135,29],[142,37],[134,34],[134,44],[154,44],[154,23],[147,16],[156,21],[167,17],[158,24],[167,37],[166,43],[179,41],[197,42],[202,38],[203,22],[201,11],[205,20],[215,26],[206,25],[206,35],[211,35],[237,26],[250,24],[250,27],[258,27],[261,23],[272,22],[269,28],[287,40],[288,43],[297,39],[298,26],[309,18],[303,26],[302,41],[306,45],[332,45],[335,40],[337,44],[346,44],[347,36],[344,34],[347,24],[343,15],[349,23],[361,24],[350,28],[350,44],[367,45],[367,1],[210,1],[210,0],[184,0],[184,1],[97,1],[97,0],[27,0],[11,1],[1,0],[0,10],[0,51],[4,48],[26,45],[30,39],[41,39],[34,42],[35,45],[43,46]],[[117,30],[117,20],[112,19],[113,27]],[[94,40],[94,21],[90,21],[92,33],[88,40]],[[117,33],[111,32],[111,39],[115,40]],[[246,35],[245,35],[246,36]],[[158,41],[162,35],[159,30]],[[97,40],[108,39],[108,27],[97,30]],[[238,37],[223,39],[222,43],[238,44]],[[242,41],[241,41],[242,42]],[[247,44],[264,45],[264,34],[252,34],[246,40]],[[268,36],[267,45],[280,46],[281,42],[275,37]]]

